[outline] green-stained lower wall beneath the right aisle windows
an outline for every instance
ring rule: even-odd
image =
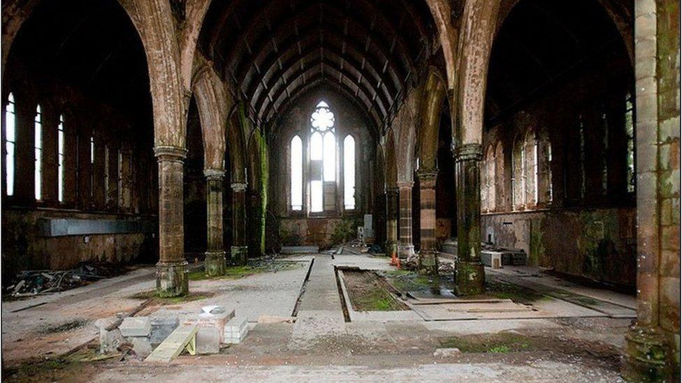
[[[634,208],[487,213],[481,240],[523,249],[535,266],[634,290],[635,218]]]

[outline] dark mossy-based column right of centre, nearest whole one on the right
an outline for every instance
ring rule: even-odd
[[[458,295],[484,292],[481,262],[481,144],[463,144],[455,149],[457,195],[457,263],[455,289]]]

